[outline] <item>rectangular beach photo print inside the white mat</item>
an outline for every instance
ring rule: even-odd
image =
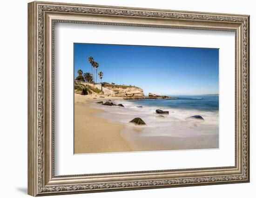
[[[219,49],[74,43],[74,154],[219,148]]]

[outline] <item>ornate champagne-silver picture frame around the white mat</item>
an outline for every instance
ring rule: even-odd
[[[235,32],[235,166],[56,176],[54,23],[57,22]],[[249,15],[40,1],[28,4],[29,195],[244,182],[249,182]]]

